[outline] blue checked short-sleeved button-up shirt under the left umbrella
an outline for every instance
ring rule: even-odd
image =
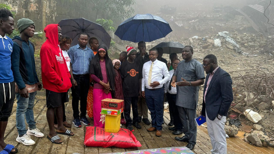
[[[89,74],[90,60],[94,57],[93,51],[86,46],[83,50],[79,44],[72,46],[68,50],[72,74]]]

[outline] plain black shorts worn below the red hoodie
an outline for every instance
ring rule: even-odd
[[[56,108],[62,106],[62,103],[68,102],[68,92],[54,92],[46,89],[47,108]]]

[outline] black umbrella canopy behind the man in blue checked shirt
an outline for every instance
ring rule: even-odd
[[[58,24],[62,29],[62,35],[67,35],[72,39],[71,46],[78,44],[78,35],[80,33],[86,33],[88,39],[91,37],[97,38],[99,44],[105,44],[108,48],[110,46],[111,37],[100,24],[84,18],[63,19]],[[90,47],[89,44],[87,46]]]

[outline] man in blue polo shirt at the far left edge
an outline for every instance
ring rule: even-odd
[[[13,15],[7,9],[0,9],[0,153],[17,153],[17,149],[4,142],[4,134],[11,115],[15,99],[15,85],[11,71],[11,53],[13,41],[6,34],[11,35],[14,30]]]

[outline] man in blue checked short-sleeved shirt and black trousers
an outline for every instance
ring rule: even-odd
[[[90,60],[94,57],[93,51],[86,46],[88,43],[88,35],[86,33],[79,34],[78,41],[79,43],[77,45],[72,46],[68,50],[72,68],[72,74],[70,74],[72,83],[72,110],[74,117],[72,123],[75,127],[81,127],[81,123],[90,125],[90,122],[86,119],[86,99],[88,97],[89,89],[89,64]],[[80,116],[78,108],[79,100]]]

